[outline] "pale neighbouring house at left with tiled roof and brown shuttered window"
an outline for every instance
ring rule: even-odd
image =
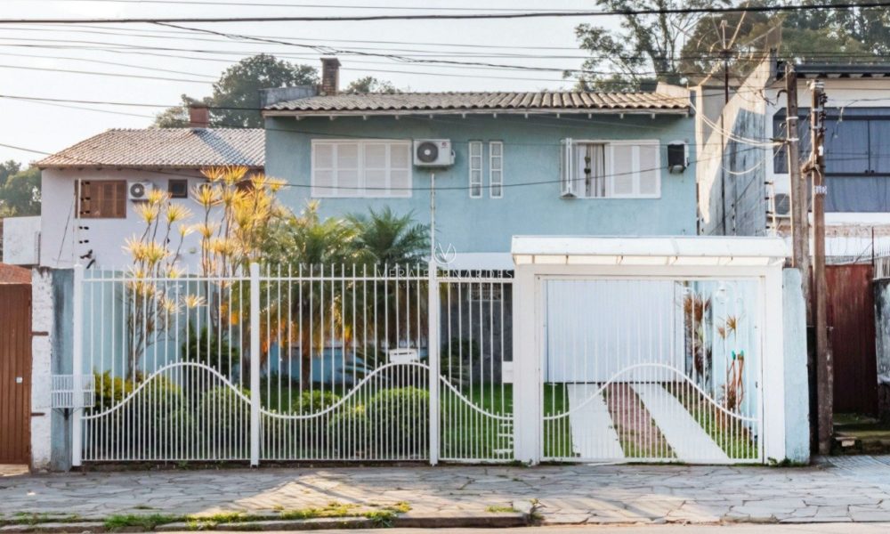
[[[200,169],[262,171],[263,145],[262,129],[208,128],[206,109],[198,108],[191,127],[109,130],[36,162],[42,170],[40,265],[125,268],[131,263],[125,239],[145,225],[134,210],[134,184],[166,190],[197,213],[189,196],[205,180]],[[194,269],[199,258],[192,234],[181,263]]]

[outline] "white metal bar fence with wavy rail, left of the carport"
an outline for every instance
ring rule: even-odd
[[[81,461],[511,461],[512,279],[76,270]],[[76,373],[77,374],[77,373]]]

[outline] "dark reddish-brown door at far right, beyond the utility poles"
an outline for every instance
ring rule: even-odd
[[[878,412],[875,302],[870,264],[829,265],[829,341],[834,357],[836,413]]]

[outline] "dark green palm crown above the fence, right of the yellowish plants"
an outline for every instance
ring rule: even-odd
[[[369,215],[348,217],[356,233],[355,246],[368,263],[405,265],[420,263],[429,252],[429,226],[416,223],[414,213],[397,215],[389,206]]]

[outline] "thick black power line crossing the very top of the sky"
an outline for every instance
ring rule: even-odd
[[[579,17],[614,17],[669,14],[707,14],[739,12],[797,12],[853,8],[890,7],[890,2],[851,2],[849,4],[808,5],[740,5],[733,7],[676,7],[659,9],[627,9],[615,11],[539,11],[436,13],[423,15],[351,15],[351,16],[276,16],[276,17],[128,17],[120,19],[0,19],[0,24],[139,24],[139,23],[218,23],[218,22],[344,22],[373,20],[504,20]]]

